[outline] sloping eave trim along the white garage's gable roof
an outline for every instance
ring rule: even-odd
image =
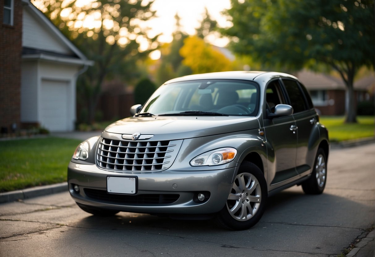
[[[43,21],[43,24],[54,33],[58,39],[60,39],[69,49],[71,49],[81,60],[87,60],[87,57],[75,46],[53,23],[50,19],[48,19],[44,13],[39,10],[34,4],[30,2],[30,0],[22,0],[24,4],[24,8],[28,8],[31,11],[31,14],[34,15],[36,18],[39,18]]]

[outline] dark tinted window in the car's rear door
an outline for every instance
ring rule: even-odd
[[[297,81],[291,79],[283,79],[282,81],[289,95],[290,103],[293,107],[293,113],[303,112],[310,109]]]

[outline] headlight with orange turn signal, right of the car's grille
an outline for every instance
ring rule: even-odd
[[[231,147],[220,148],[198,155],[190,161],[191,166],[211,166],[232,161],[237,155],[237,150]]]

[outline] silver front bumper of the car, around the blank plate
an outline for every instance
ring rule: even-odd
[[[236,167],[217,170],[159,172],[112,172],[95,164],[69,163],[68,185],[73,199],[93,208],[150,214],[211,214],[225,206]],[[136,176],[135,195],[107,193],[107,176]],[[77,193],[74,184],[80,187]],[[94,193],[93,193],[94,192]],[[202,202],[196,199],[204,193]],[[144,200],[145,196],[160,201]],[[168,196],[173,196],[170,200]],[[172,197],[172,198],[173,198]],[[162,199],[168,198],[170,201]]]

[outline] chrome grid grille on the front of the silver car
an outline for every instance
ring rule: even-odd
[[[118,171],[154,171],[171,166],[176,141],[128,141],[102,138],[96,152],[99,167]]]

